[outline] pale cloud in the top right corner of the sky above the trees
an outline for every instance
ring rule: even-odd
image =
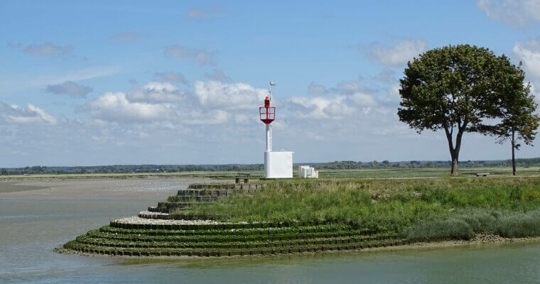
[[[490,18],[510,26],[526,26],[540,20],[539,0],[477,0],[478,8]]]

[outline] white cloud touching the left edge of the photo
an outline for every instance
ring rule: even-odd
[[[16,104],[5,104],[0,102],[0,120],[14,124],[50,124],[55,125],[58,119],[48,114],[44,109],[27,104],[26,107],[19,107]]]

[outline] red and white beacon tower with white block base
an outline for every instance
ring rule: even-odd
[[[270,88],[276,83],[270,82]],[[266,151],[264,151],[264,178],[293,178],[293,152],[272,151],[272,126],[276,119],[276,107],[271,107],[272,92],[264,98],[264,107],[259,107],[259,118],[266,124]]]

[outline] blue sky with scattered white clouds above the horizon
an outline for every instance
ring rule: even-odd
[[[269,81],[296,163],[449,160],[399,121],[406,62],[489,48],[540,102],[539,31],[540,0],[1,1],[0,167],[262,163]],[[460,159],[510,151],[465,133]]]

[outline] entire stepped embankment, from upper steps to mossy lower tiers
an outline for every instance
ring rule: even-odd
[[[170,204],[215,202],[249,194],[264,185],[190,185],[167,202],[138,217],[115,219],[63,246],[64,251],[111,256],[252,256],[282,253],[345,251],[411,244],[393,231],[367,231],[330,222],[227,223],[205,216],[169,214]],[[189,197],[189,198],[185,198]],[[181,201],[181,202],[180,202]]]

